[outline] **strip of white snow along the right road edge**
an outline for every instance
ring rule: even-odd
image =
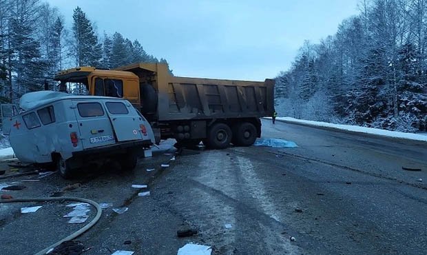
[[[404,133],[404,132],[397,132],[397,131],[390,131],[390,130],[381,130],[379,128],[366,128],[366,127],[360,127],[357,125],[340,125],[340,124],[332,124],[332,123],[326,123],[326,122],[320,122],[320,121],[305,121],[302,119],[294,119],[291,117],[277,117],[276,120],[287,121],[291,123],[313,125],[317,127],[336,128],[339,130],[347,130],[347,131],[360,132],[360,133],[366,133],[366,134],[377,134],[379,136],[389,136],[389,137],[410,139],[410,140],[417,140],[417,141],[427,141],[426,134],[412,134],[412,133]]]

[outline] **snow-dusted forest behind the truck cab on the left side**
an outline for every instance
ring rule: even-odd
[[[145,52],[138,40],[120,32],[98,34],[76,7],[72,24],[59,10],[39,0],[0,0],[0,101],[50,88],[59,70],[91,65],[115,68],[134,62],[164,62]]]

